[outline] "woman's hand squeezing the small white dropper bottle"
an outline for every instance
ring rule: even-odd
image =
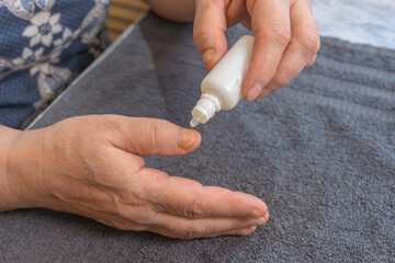
[[[319,34],[311,0],[195,0],[193,37],[208,70],[227,52],[226,28],[239,22],[256,35],[247,100],[266,98],[313,65]]]

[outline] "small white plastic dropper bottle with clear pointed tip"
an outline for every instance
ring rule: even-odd
[[[203,79],[202,96],[193,107],[190,125],[205,124],[221,110],[234,108],[242,98],[241,84],[248,69],[255,37],[241,36]]]

